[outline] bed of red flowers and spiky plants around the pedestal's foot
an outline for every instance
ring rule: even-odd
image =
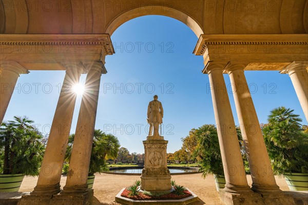
[[[192,194],[187,190],[184,191],[183,195],[169,193],[169,194],[164,194],[161,196],[149,196],[149,195],[145,195],[142,192],[140,192],[138,195],[130,196],[129,193],[130,191],[125,189],[122,192],[121,196],[129,198],[129,199],[133,199],[133,200],[173,200],[173,199],[182,199],[182,198],[192,196]]]

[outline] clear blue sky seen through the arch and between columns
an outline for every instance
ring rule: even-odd
[[[185,24],[165,16],[142,16],[123,24],[111,36],[115,54],[106,57],[96,129],[117,136],[130,152],[143,153],[147,136],[146,112],[157,94],[164,108],[163,136],[167,152],[181,148],[181,137],[191,128],[215,124],[209,80],[202,74],[202,56],[195,56],[198,37]],[[21,75],[5,115],[27,115],[41,132],[50,130],[64,71],[30,71]],[[307,124],[290,77],[278,71],[246,71],[260,122],[279,106],[295,110]],[[84,83],[85,75],[81,82]],[[229,77],[224,75],[226,85]],[[36,85],[36,86],[35,86]],[[234,119],[238,124],[232,93]],[[71,133],[75,132],[81,96],[78,96]]]

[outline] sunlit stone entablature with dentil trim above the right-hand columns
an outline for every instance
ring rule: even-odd
[[[306,34],[202,34],[194,53],[210,64],[247,65],[245,70],[281,70],[293,61],[307,60]]]

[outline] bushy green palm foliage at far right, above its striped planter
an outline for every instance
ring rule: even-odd
[[[275,174],[308,171],[308,133],[303,131],[299,115],[293,112],[285,107],[273,109],[268,124],[262,128]]]

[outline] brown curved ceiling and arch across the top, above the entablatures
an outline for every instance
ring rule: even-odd
[[[5,34],[109,33],[134,17],[181,20],[200,34],[308,33],[306,0],[0,0]]]

